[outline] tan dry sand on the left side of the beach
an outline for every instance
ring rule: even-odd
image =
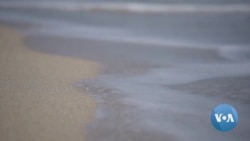
[[[93,77],[95,62],[37,53],[0,27],[0,140],[84,140],[96,108],[72,83]]]

